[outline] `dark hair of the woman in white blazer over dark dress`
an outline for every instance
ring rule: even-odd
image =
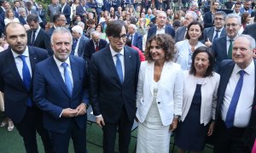
[[[203,75],[203,77],[209,77],[212,76],[212,71],[213,71],[213,65],[214,65],[214,59],[212,55],[212,48],[208,48],[206,46],[201,46],[199,48],[196,48],[193,55],[192,55],[192,64],[190,67],[189,74],[194,75],[196,74],[195,70],[195,56],[200,53],[206,53],[208,54],[208,59],[209,59],[209,66],[207,68],[206,73]]]

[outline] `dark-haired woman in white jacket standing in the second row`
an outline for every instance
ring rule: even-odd
[[[177,42],[176,47],[176,63],[180,64],[183,70],[189,70],[192,60],[191,56],[196,48],[205,46],[200,42],[203,37],[203,27],[198,21],[192,21],[185,36],[185,40]]]

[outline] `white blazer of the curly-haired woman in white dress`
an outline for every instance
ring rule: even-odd
[[[144,122],[154,98],[154,61],[141,63],[137,85],[137,119]],[[182,115],[183,71],[180,65],[165,62],[156,97],[161,122],[170,125],[173,116]]]

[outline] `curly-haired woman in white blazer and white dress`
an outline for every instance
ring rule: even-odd
[[[169,152],[171,131],[182,114],[183,71],[172,62],[174,41],[159,34],[148,41],[137,85],[137,152]]]

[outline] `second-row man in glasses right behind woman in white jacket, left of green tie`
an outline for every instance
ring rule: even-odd
[[[215,13],[214,26],[207,27],[204,29],[204,40],[203,42],[207,47],[212,46],[212,42],[218,37],[226,36],[225,25],[226,14],[223,11],[218,11]]]

